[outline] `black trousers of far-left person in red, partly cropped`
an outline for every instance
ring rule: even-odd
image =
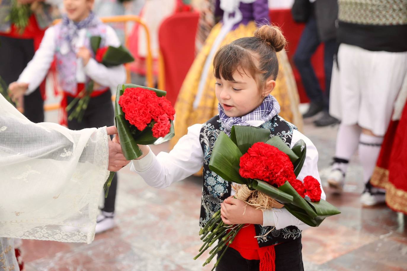
[[[33,56],[33,39],[16,39],[0,35],[0,76],[7,85],[17,81]],[[44,122],[44,100],[39,88],[24,96],[24,116],[35,123]]]

